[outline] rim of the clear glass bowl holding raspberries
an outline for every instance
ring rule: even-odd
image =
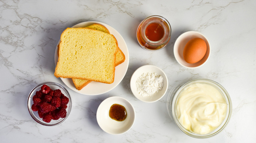
[[[66,117],[62,118],[62,119],[59,119],[59,121],[57,121],[55,123],[51,123],[51,122],[47,123],[47,122],[43,122],[43,121],[38,120],[35,117],[34,113],[33,113],[34,111],[32,111],[32,109],[31,109],[31,106],[32,106],[31,101],[32,101],[32,97],[34,96],[33,93],[36,92],[35,90],[37,90],[37,88],[41,87],[42,85],[49,85],[49,84],[60,87],[62,90],[64,90],[67,93],[67,96],[69,98],[69,106],[67,108],[67,115],[66,115]],[[35,86],[31,90],[31,92],[29,93],[28,100],[27,100],[27,107],[28,107],[28,110],[29,110],[29,114],[31,115],[32,119],[34,119],[34,121],[36,121],[37,123],[40,123],[41,125],[45,125],[45,126],[55,126],[55,125],[58,125],[58,124],[62,123],[64,120],[66,120],[68,118],[68,116],[69,116],[69,114],[71,112],[71,108],[72,108],[72,99],[71,99],[71,96],[70,96],[68,90],[65,87],[63,87],[62,85],[60,85],[58,83],[55,83],[55,82],[43,82],[43,83],[38,84],[37,86]]]

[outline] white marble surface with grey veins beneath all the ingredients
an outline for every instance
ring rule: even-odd
[[[255,142],[256,128],[256,1],[254,0],[1,0],[0,1],[0,139],[9,142]],[[160,51],[142,49],[136,40],[138,24],[160,15],[172,27],[171,40]],[[39,83],[63,84],[54,73],[54,51],[66,27],[98,21],[114,27],[124,38],[130,61],[122,82],[97,96],[68,88],[74,105],[68,119],[46,127],[27,109],[27,97]],[[198,31],[210,40],[212,51],[198,69],[180,66],[173,55],[175,40],[186,31]],[[169,117],[168,93],[156,103],[143,103],[130,90],[132,73],[142,65],[166,72],[168,91],[180,82],[207,78],[230,94],[233,113],[219,135],[196,139],[185,135]],[[96,110],[111,96],[132,103],[136,120],[127,133],[110,135],[98,126]]]

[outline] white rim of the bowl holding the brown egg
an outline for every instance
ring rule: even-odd
[[[176,55],[176,51],[178,50],[177,41],[180,40],[180,39],[182,39],[182,38],[184,37],[184,35],[189,35],[189,34],[193,34],[193,33],[194,33],[194,34],[201,35],[201,36],[207,41],[207,43],[208,43],[208,45],[209,45],[209,55],[208,55],[208,57],[206,58],[206,60],[205,60],[201,65],[196,66],[196,67],[188,67],[188,66],[183,65],[183,64],[180,62],[180,60],[178,59],[177,55]],[[196,68],[199,68],[199,67],[203,66],[203,65],[208,61],[208,59],[209,59],[209,57],[210,57],[210,55],[211,55],[211,44],[210,44],[209,40],[207,39],[207,37],[206,37],[205,35],[203,35],[202,33],[197,32],[197,31],[187,31],[187,32],[182,33],[182,34],[175,40],[174,46],[173,46],[173,54],[174,54],[174,57],[175,57],[176,61],[177,61],[182,67],[185,67],[185,68],[188,68],[188,69],[196,69]],[[194,64],[195,64],[195,63],[194,63]]]

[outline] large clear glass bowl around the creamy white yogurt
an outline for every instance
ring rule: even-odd
[[[213,131],[211,131],[208,134],[205,135],[200,135],[200,134],[195,134],[189,130],[187,130],[186,128],[184,128],[182,126],[182,124],[179,122],[179,119],[176,115],[176,103],[177,103],[177,99],[181,93],[181,91],[183,91],[183,89],[185,89],[186,87],[196,84],[196,83],[203,83],[203,84],[207,84],[207,85],[211,85],[213,87],[215,87],[216,89],[218,89],[222,96],[224,97],[224,100],[226,101],[227,104],[227,108],[226,108],[226,115],[224,120],[222,121],[222,123]],[[167,109],[169,112],[169,116],[171,118],[174,119],[176,125],[181,129],[182,132],[184,132],[186,135],[189,135],[191,137],[195,137],[195,138],[209,138],[212,136],[215,136],[217,134],[219,134],[221,131],[224,130],[224,128],[227,126],[230,118],[231,118],[231,113],[232,113],[232,103],[231,103],[231,99],[229,97],[229,94],[227,93],[227,91],[224,89],[224,87],[222,87],[219,83],[209,80],[209,79],[196,79],[196,80],[192,80],[189,81],[185,84],[179,84],[176,87],[173,88],[173,90],[170,92],[169,97],[168,97],[168,101],[167,101]]]

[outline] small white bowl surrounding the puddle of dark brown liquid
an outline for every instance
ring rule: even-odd
[[[113,104],[120,104],[125,107],[127,113],[125,120],[116,121],[109,117],[109,109]],[[128,100],[122,97],[113,96],[100,103],[97,109],[96,119],[99,127],[103,131],[112,135],[120,135],[130,130],[133,126],[135,121],[135,110]]]

